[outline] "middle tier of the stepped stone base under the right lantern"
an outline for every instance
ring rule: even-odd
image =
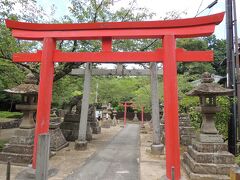
[[[234,164],[234,156],[226,151],[215,153],[203,153],[188,146],[188,153],[198,163],[213,163],[213,164]]]

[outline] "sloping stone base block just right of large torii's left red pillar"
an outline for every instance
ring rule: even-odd
[[[62,134],[61,129],[58,127],[56,129],[50,129],[50,149],[52,151],[59,151],[69,145],[65,137]]]

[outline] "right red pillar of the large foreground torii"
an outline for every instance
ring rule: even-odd
[[[180,143],[178,126],[178,88],[175,37],[165,36],[163,39],[163,48],[166,175],[168,179],[172,179],[171,170],[174,168],[174,177],[176,180],[179,180]]]

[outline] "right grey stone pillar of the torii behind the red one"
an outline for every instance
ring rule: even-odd
[[[151,94],[152,94],[152,123],[153,123],[153,154],[163,154],[164,146],[161,144],[160,117],[159,117],[159,96],[158,96],[158,75],[157,63],[150,63],[151,70]]]

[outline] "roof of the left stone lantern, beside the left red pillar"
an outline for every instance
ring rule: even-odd
[[[11,89],[5,89],[5,92],[12,93],[12,94],[38,94],[38,85],[36,85],[37,80],[32,73],[29,73],[26,76],[24,83],[13,87]]]

